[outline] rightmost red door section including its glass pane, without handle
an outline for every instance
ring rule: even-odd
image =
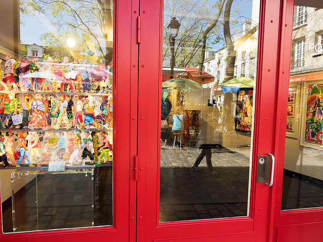
[[[321,241],[323,236],[319,114],[322,66],[318,59],[321,26],[316,24],[322,7],[316,1],[286,4],[282,70],[289,75],[283,75],[278,97],[282,100],[280,115],[287,127],[286,131],[284,126],[278,130],[277,156],[284,162],[277,167],[272,241]]]

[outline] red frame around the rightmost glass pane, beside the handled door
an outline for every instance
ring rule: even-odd
[[[284,1],[283,10],[283,27],[285,23],[285,31],[282,31],[281,45],[281,63],[280,70],[282,77],[279,80],[280,92],[278,92],[278,100],[281,100],[280,107],[277,109],[279,117],[281,117],[281,126],[277,127],[279,136],[275,145],[277,154],[277,183],[276,197],[274,198],[273,211],[274,223],[270,241],[322,241],[323,238],[323,209],[297,209],[281,211],[282,190],[283,190],[283,172],[285,157],[285,140],[286,140],[286,119],[287,119],[287,101],[286,97],[289,88],[289,74],[291,62],[292,32],[293,32],[293,14],[294,0]]]

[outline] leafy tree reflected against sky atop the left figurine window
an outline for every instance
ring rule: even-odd
[[[21,5],[23,16],[33,15],[48,26],[50,31],[41,36],[48,46],[67,48],[75,59],[86,57],[92,61],[103,56],[105,63],[112,61],[111,0],[25,0]],[[76,39],[76,47],[67,46],[69,37]]]

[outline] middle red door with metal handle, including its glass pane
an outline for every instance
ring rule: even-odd
[[[140,1],[137,241],[275,240],[274,201],[282,180],[275,175],[277,163],[269,164],[273,171],[266,172],[274,172],[274,180],[273,186],[267,186],[259,164],[261,158],[271,162],[268,153],[277,156],[278,131],[286,127],[279,95],[282,79],[288,77],[281,48],[287,7],[281,1],[260,2],[252,5],[249,28],[245,21],[242,30],[247,32],[232,38],[234,44],[227,40],[218,49],[208,49],[205,70],[197,74],[197,68],[187,67],[197,67],[199,58],[196,64],[184,65],[185,53],[178,53],[185,44],[191,44],[188,52],[193,51],[192,42],[198,37],[188,19],[198,19],[196,12],[182,2],[176,8],[171,1],[164,5]],[[212,7],[202,8],[205,18]],[[219,21],[223,24],[228,15],[222,14]],[[170,36],[166,30],[174,17],[180,31]],[[192,28],[209,26],[210,22]],[[219,27],[216,34],[228,36],[222,31]],[[209,73],[215,80],[207,79]],[[217,87],[239,77],[253,84],[239,89],[228,84],[222,88],[228,88],[226,92]],[[205,155],[206,159],[211,155],[207,166],[201,161]]]

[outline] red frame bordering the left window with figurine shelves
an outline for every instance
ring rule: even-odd
[[[138,9],[137,0],[114,3],[114,225],[10,234],[1,226],[0,241],[135,241],[137,184],[130,171],[137,155]]]

